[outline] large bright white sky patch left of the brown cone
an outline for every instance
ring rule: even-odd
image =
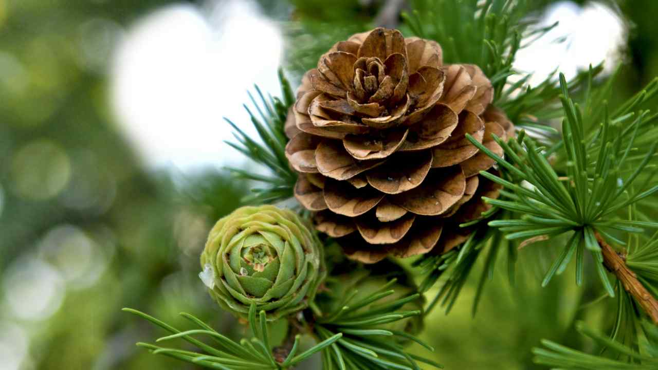
[[[113,63],[116,119],[150,167],[242,161],[228,117],[255,134],[242,104],[257,83],[279,94],[282,38],[251,1],[173,5],[136,24]]]

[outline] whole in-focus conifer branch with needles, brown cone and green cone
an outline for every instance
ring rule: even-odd
[[[541,285],[574,261],[575,284],[595,275],[617,315],[609,337],[572,325],[609,351],[546,340],[536,362],[656,368],[658,223],[644,202],[658,192],[658,114],[647,109],[658,83],[617,107],[607,103],[617,72],[599,78],[601,66],[528,86],[517,51],[552,27],[529,12],[524,1],[410,1],[394,18],[404,35],[376,27],[300,47],[316,66],[296,93],[280,72],[281,99],[257,89],[259,116],[249,113],[260,137],[229,121],[230,145],[271,174],[232,169],[265,187],[218,221],[201,255],[211,296],[253,338],[129,310],[172,333],[158,342],[183,338],[201,352],[139,345],[211,369],[291,369],[316,354],[322,369],[442,367],[417,337],[432,330],[424,317],[449,312],[479,263],[475,313],[499,254],[514,282],[519,248],[551,240],[557,258],[533,266]],[[275,343],[276,323],[286,335]]]

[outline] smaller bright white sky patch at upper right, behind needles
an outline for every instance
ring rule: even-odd
[[[567,79],[590,63],[595,66],[605,61],[608,72],[615,68],[627,30],[612,9],[600,3],[581,8],[571,1],[561,1],[547,9],[540,26],[557,21],[559,25],[551,32],[517,54],[515,66],[523,72],[534,72],[531,84],[542,82],[557,67]],[[555,42],[565,36],[565,42]]]

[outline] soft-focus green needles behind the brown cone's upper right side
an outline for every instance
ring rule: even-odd
[[[403,18],[415,36],[442,45],[444,63],[480,66],[493,84],[493,104],[516,126],[551,135],[557,130],[549,120],[559,117],[557,71],[530,86],[532,74],[522,74],[513,66],[520,49],[557,26],[557,22],[538,26],[538,18],[530,13],[536,5],[527,0],[415,0],[413,11],[403,13]],[[597,66],[594,74],[601,70],[603,66]],[[585,76],[581,73],[570,81],[570,90],[580,88]]]

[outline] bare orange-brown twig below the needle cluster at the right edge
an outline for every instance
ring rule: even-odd
[[[628,269],[626,266],[626,261],[624,257],[619,255],[617,251],[613,250],[598,232],[595,232],[596,240],[601,246],[601,252],[603,253],[603,264],[611,273],[622,282],[626,292],[632,295],[636,302],[640,304],[642,309],[651,317],[651,321],[654,324],[658,325],[658,301],[649,293],[647,288],[645,288],[640,280],[638,280],[637,275]]]

